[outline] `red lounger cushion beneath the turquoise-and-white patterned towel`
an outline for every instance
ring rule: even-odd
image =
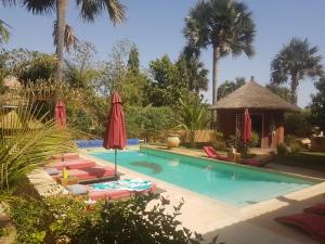
[[[92,191],[90,190],[88,195],[89,198],[92,201],[99,201],[99,200],[119,200],[122,197],[130,197],[133,194],[142,194],[147,192],[156,191],[157,185],[153,184],[151,189],[144,190],[144,191],[128,191],[128,190],[103,190],[103,191]]]

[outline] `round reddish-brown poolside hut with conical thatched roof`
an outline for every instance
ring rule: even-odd
[[[251,129],[261,147],[275,147],[284,140],[284,113],[300,108],[253,81],[247,82],[210,106],[217,111],[220,130],[225,138],[242,131],[244,110],[251,116]]]

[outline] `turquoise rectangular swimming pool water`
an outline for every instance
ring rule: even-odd
[[[91,155],[114,162],[113,152]],[[291,176],[153,149],[119,151],[117,162],[126,168],[237,207],[315,184]]]

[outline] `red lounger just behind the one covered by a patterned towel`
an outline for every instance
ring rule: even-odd
[[[62,172],[53,178],[61,179]],[[76,179],[78,182],[82,181],[95,181],[95,180],[103,180],[103,179],[112,179],[115,177],[115,170],[112,167],[102,167],[102,166],[94,166],[90,168],[81,168],[81,169],[69,169],[68,177]]]

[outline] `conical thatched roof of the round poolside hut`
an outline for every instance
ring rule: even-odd
[[[300,108],[280,98],[265,87],[253,80],[238,88],[231,94],[219,100],[210,106],[210,110],[278,110],[285,112],[299,112]]]

